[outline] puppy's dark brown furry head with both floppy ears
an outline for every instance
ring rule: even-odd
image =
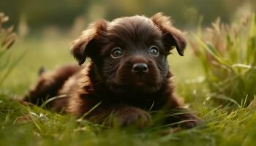
[[[97,82],[111,91],[154,93],[167,79],[167,55],[174,47],[184,55],[184,34],[157,13],[91,23],[71,51],[79,64],[91,58]]]

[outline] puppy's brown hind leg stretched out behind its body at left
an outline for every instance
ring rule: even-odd
[[[80,66],[67,65],[56,69],[53,72],[43,72],[39,77],[37,84],[31,88],[29,93],[23,97],[23,101],[29,101],[32,104],[40,105],[47,98],[57,96],[59,89],[64,82],[80,71]]]

